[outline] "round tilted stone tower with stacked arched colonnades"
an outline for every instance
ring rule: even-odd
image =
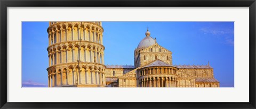
[[[49,87],[106,86],[101,22],[49,22],[47,32]]]

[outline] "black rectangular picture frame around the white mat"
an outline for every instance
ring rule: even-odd
[[[1,68],[0,108],[256,108],[255,103],[255,0],[0,0]],[[10,103],[7,102],[7,7],[249,7],[250,98],[248,103]],[[234,96],[235,97],[235,96]],[[138,97],[138,99],[141,99]],[[221,98],[220,98],[221,99]],[[132,101],[131,101],[132,102]]]

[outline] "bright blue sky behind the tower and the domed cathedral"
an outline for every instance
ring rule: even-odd
[[[22,87],[47,87],[48,22],[22,22]],[[102,22],[105,65],[134,65],[147,27],[172,51],[174,65],[214,68],[220,87],[234,87],[234,22]]]

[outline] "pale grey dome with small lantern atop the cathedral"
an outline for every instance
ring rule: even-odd
[[[146,34],[146,37],[140,41],[137,49],[147,48],[147,47],[152,46],[153,44],[155,44],[155,40],[152,37],[150,37],[150,32],[148,30],[145,34]]]

